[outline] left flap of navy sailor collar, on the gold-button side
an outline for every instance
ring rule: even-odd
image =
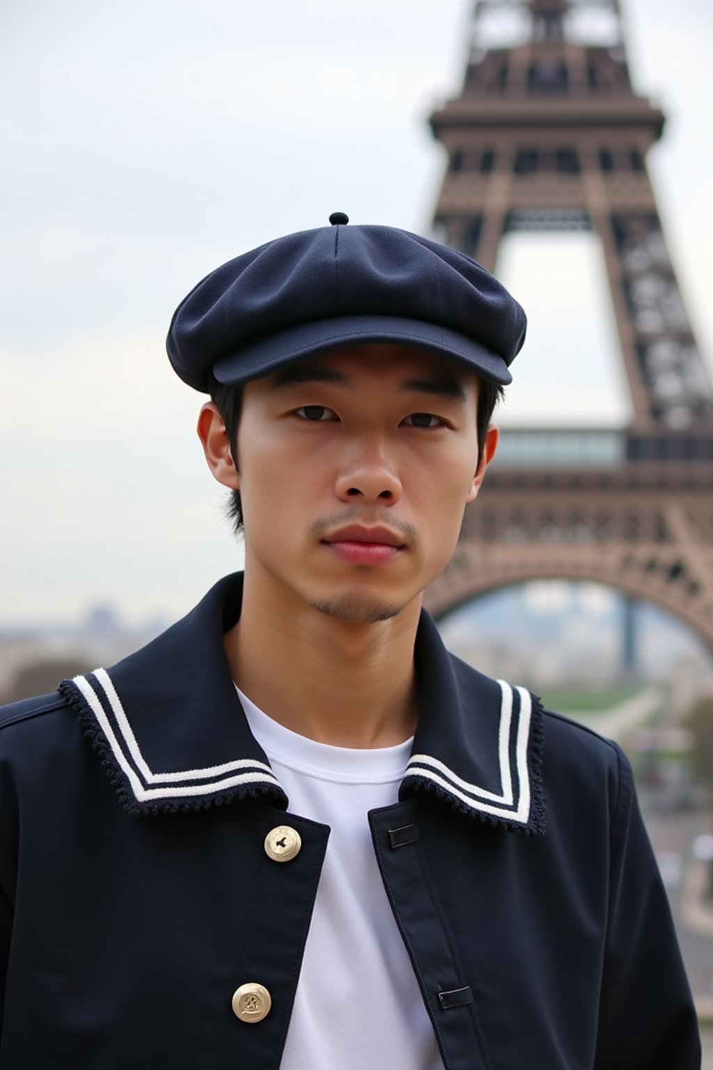
[[[148,646],[60,685],[127,810],[198,810],[254,795],[286,808],[224,654],[242,594],[242,576],[227,577]]]

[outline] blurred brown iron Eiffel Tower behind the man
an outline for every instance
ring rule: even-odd
[[[503,431],[427,605],[441,616],[527,580],[601,582],[713,649],[713,391],[647,170],[664,114],[632,87],[619,3],[480,0],[462,92],[431,126],[447,244],[493,271],[509,232],[598,235],[633,417]]]

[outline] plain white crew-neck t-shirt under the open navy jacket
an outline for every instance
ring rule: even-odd
[[[413,740],[330,747],[238,694],[290,809],[331,828],[280,1070],[443,1070],[367,820],[397,801]]]

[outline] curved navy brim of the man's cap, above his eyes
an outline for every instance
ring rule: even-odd
[[[269,376],[301,357],[358,342],[400,342],[443,353],[467,364],[483,379],[507,386],[512,376],[501,356],[458,331],[398,316],[339,316],[303,323],[268,335],[219,357],[213,373],[219,383],[238,385]]]

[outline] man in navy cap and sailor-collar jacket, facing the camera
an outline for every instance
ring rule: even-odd
[[[245,575],[0,715],[1,1070],[699,1066],[625,758],[421,611],[524,314],[347,223],[171,323]]]

